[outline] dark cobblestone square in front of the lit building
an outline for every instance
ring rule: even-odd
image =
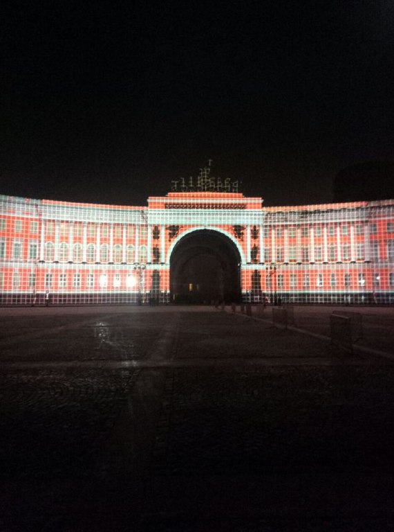
[[[0,309],[0,331],[1,531],[394,529],[391,358],[203,307]]]

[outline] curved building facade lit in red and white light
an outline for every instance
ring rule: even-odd
[[[223,190],[144,207],[0,196],[0,303],[174,301],[171,257],[194,234],[231,247],[232,299],[394,303],[394,200],[264,207]]]

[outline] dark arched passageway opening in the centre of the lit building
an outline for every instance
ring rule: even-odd
[[[176,303],[238,301],[241,257],[232,240],[201,229],[177,242],[170,258],[171,300]]]

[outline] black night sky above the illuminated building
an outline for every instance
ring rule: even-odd
[[[145,205],[171,179],[330,202],[394,159],[391,1],[26,1],[0,10],[0,193]]]

